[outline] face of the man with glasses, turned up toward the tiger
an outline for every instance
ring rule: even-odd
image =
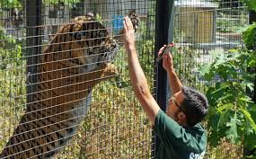
[[[187,122],[186,115],[181,108],[183,100],[184,96],[181,91],[173,94],[169,99],[168,107],[166,109],[166,114],[177,121],[180,125],[184,125]]]

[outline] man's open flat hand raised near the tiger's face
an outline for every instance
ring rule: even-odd
[[[135,34],[132,22],[126,16],[123,21],[124,24],[124,45],[128,52],[132,49],[135,49]]]

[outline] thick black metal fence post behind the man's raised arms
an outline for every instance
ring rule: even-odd
[[[155,50],[154,59],[157,57],[158,50],[163,47],[164,44],[172,42],[172,6],[174,0],[156,0],[155,8]],[[166,103],[168,99],[169,85],[167,80],[167,74],[164,70],[162,63],[155,68],[155,86],[156,86],[156,101],[162,110],[166,110]],[[154,150],[152,151],[154,156],[158,151],[159,140],[154,137]]]

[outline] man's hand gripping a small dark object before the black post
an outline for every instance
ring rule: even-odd
[[[158,51],[158,56],[162,54],[164,48],[166,47],[166,45],[163,45],[163,47],[161,49],[159,49]],[[173,62],[172,62],[172,53],[169,51],[168,54],[163,55],[163,68],[166,71],[173,71]]]

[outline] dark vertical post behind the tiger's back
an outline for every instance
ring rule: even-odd
[[[26,1],[26,57],[27,57],[27,103],[32,102],[32,94],[37,92],[37,64],[40,49],[41,0]]]

